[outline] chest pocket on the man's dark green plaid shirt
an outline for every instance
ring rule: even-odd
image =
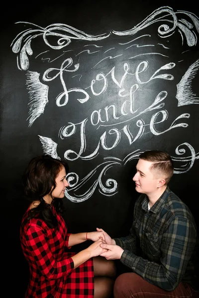
[[[157,257],[160,255],[160,243],[159,238],[149,232],[145,233],[144,237],[144,252]]]

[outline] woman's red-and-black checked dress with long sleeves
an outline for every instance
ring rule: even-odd
[[[20,229],[22,251],[30,269],[25,298],[93,298],[93,259],[74,269],[71,256],[75,253],[65,251],[70,234],[53,206],[52,211],[58,220],[57,229],[40,219],[32,219]]]

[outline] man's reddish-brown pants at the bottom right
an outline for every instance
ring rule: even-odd
[[[114,298],[199,298],[199,293],[183,283],[168,292],[148,283],[136,273],[123,273],[115,281]]]

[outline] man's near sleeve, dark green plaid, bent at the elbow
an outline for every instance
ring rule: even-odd
[[[124,250],[121,262],[149,283],[173,291],[181,282],[196,244],[196,229],[185,218],[175,218],[162,235],[160,263]]]

